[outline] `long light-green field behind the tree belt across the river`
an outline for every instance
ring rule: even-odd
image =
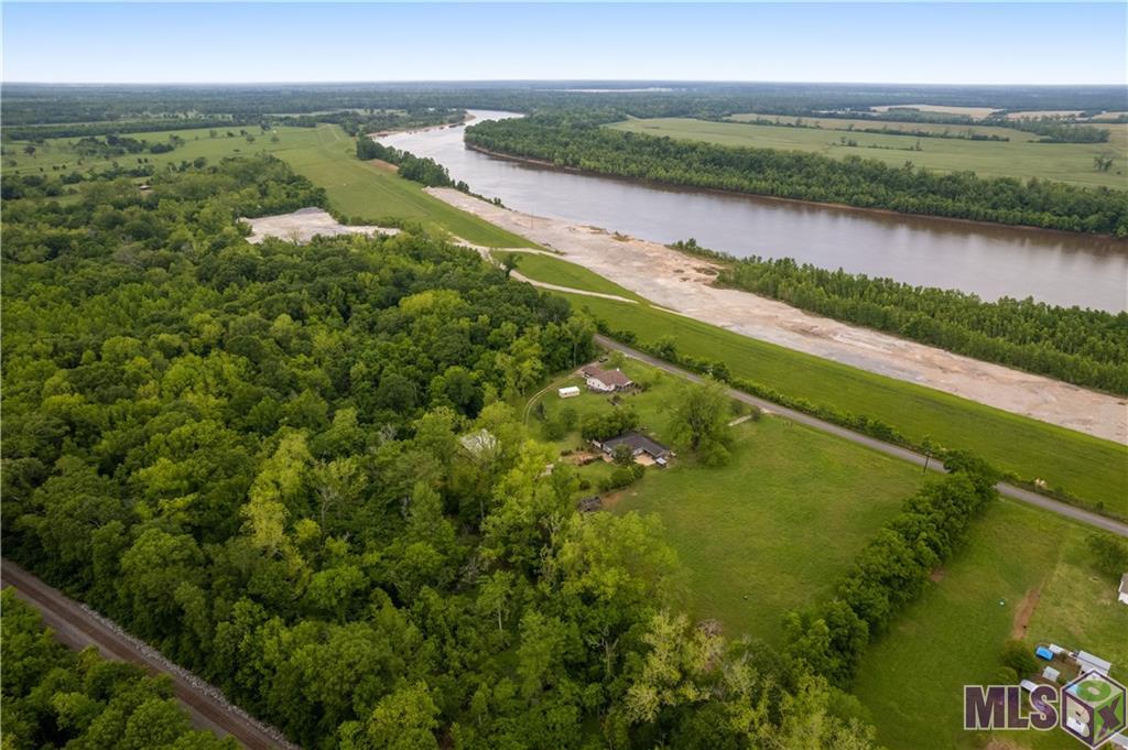
[[[827,121],[830,118],[821,118]],[[848,121],[847,121],[848,122]],[[878,126],[895,123],[878,123]],[[914,126],[916,124],[914,123]],[[923,125],[922,125],[923,126]],[[755,147],[821,153],[837,159],[856,156],[878,159],[888,165],[901,166],[911,161],[918,167],[941,171],[971,170],[986,177],[1020,177],[1023,179],[1057,179],[1078,185],[1128,187],[1128,124],[1103,125],[1113,132],[1109,143],[1036,143],[1022,141],[970,141],[964,139],[913,138],[909,135],[874,134],[830,131],[810,127],[752,125],[737,122],[707,122],[685,117],[628,120],[608,127],[667,135],[687,141],[707,141],[721,145]],[[961,126],[949,126],[953,132]],[[966,129],[966,126],[963,126]],[[1010,136],[1016,132],[1008,127],[998,130]],[[845,145],[843,139],[856,141]],[[919,143],[923,150],[908,150]],[[881,148],[867,148],[881,147]],[[1093,158],[1101,155],[1116,157],[1112,169],[1099,173]]]

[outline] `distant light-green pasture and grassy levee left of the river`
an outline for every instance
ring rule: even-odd
[[[452,232],[472,242],[491,247],[519,247],[529,244],[528,240],[431,197],[416,183],[359,161],[353,140],[336,125],[279,127],[274,133],[247,129],[255,136],[254,143],[248,143],[239,135],[238,129],[232,130],[235,138],[227,138],[223,129],[217,129],[218,138],[211,138],[208,129],[174,132],[185,142],[168,153],[129,155],[115,160],[85,158],[81,165],[73,150],[73,142],[78,139],[50,140],[36,145],[34,156],[24,153],[25,144],[21,142],[6,142],[5,170],[14,174],[62,175],[76,169],[104,169],[112,161],[131,167],[138,165],[138,158],[161,166],[192,161],[200,157],[214,161],[224,157],[266,152],[285,160],[296,171],[324,187],[331,204],[349,217],[370,223],[379,223],[389,217],[414,220],[430,230]],[[277,142],[271,140],[272,134],[277,135]],[[150,143],[167,141],[168,136],[168,132],[130,135]],[[10,166],[9,160],[14,160],[16,166]]]

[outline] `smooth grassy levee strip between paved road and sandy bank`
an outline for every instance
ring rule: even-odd
[[[531,277],[531,276],[530,276]],[[544,279],[550,281],[550,279]],[[817,405],[881,420],[906,436],[973,451],[1021,479],[1128,515],[1128,447],[1003,412],[931,388],[760,342],[646,305],[565,294],[641,342],[672,336],[678,351],[723,361],[737,378]]]

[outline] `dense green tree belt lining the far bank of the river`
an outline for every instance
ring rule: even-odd
[[[637,179],[845,203],[955,219],[1128,237],[1128,192],[914,167],[800,151],[734,148],[601,127],[566,113],[483,122],[466,142],[559,167]]]

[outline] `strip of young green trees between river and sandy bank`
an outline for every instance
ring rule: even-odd
[[[720,284],[978,360],[1128,395],[1128,312],[1030,298],[985,302],[957,290],[827,271],[792,258],[734,258],[703,250],[691,239],[673,247],[723,259]]]

